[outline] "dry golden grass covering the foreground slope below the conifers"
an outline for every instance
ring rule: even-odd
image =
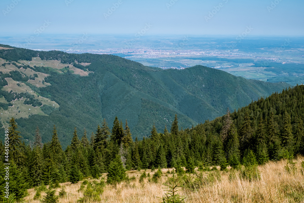
[[[259,166],[261,178],[259,180],[243,180],[236,172],[234,178],[231,177],[231,170],[218,172],[219,179],[213,182],[201,183],[195,185],[196,189],[188,187],[181,188],[179,194],[186,197],[185,202],[304,202],[304,176],[301,162],[303,157],[296,159],[297,170],[294,173],[288,173],[285,170],[286,160],[279,162],[269,162],[264,166]],[[139,183],[140,172],[128,171],[129,177],[136,177],[130,183],[123,182],[112,186],[106,185],[104,192],[100,195],[100,202],[160,202],[157,197],[162,197],[164,192],[163,183],[172,177],[167,171],[172,169],[162,169],[162,178],[159,183],[150,183],[145,178],[144,183]],[[143,170],[141,171],[143,172]],[[147,170],[151,177],[153,173]],[[209,173],[203,172],[207,176]],[[105,174],[103,174],[105,177]],[[92,181],[92,180],[89,180]],[[83,192],[78,192],[81,183],[69,184],[66,186],[67,196],[60,198],[59,202],[70,203],[77,202],[77,199],[83,196]],[[57,189],[57,194],[60,189]],[[34,189],[29,190],[29,196],[26,197],[26,202],[38,203],[33,200],[35,195]]]

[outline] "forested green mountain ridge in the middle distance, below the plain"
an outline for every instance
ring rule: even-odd
[[[17,63],[0,66],[3,81],[1,94],[5,97],[0,99],[5,99],[6,103],[12,102],[5,94],[14,95],[15,99],[17,92],[21,91],[17,89],[27,87],[34,93],[24,91],[40,96],[33,98],[36,100],[32,103],[43,98],[58,105],[53,108],[42,102],[43,106],[35,108],[40,108],[43,113],[17,117],[22,137],[33,140],[34,129],[39,126],[43,142],[50,141],[55,124],[64,147],[71,141],[74,127],[95,132],[103,118],[109,123],[115,116],[123,122],[127,119],[133,138],[142,138],[150,134],[153,123],[159,129],[165,125],[170,129],[175,114],[180,127],[191,128],[192,125],[222,116],[227,107],[238,109],[258,97],[281,92],[289,86],[287,83],[247,80],[203,66],[162,70],[113,55],[33,51],[6,45],[0,47],[12,48],[0,49],[1,63]],[[39,65],[34,58],[36,61],[41,59]],[[21,72],[17,75],[19,78],[16,79],[15,72],[5,75],[4,70],[8,68]],[[26,77],[31,78],[34,72],[40,83],[38,79],[35,80],[37,83],[30,79],[23,81]],[[42,74],[47,74],[43,81],[40,79]],[[11,80],[8,85],[5,83],[7,78]],[[21,86],[13,85],[14,81],[20,82]],[[5,93],[4,89],[9,90],[8,86],[14,86],[16,91],[11,88],[12,92]],[[14,101],[18,100],[22,100],[22,97],[16,97]],[[2,111],[4,108],[1,108]],[[5,124],[3,119],[1,121]]]

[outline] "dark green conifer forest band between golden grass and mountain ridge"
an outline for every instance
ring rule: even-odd
[[[90,136],[85,129],[79,135],[75,128],[71,144],[65,150],[55,126],[50,142],[42,143],[37,127],[33,145],[25,145],[12,118],[10,189],[20,199],[27,188],[48,184],[49,178],[57,183],[77,183],[84,177],[99,178],[101,173],[108,173],[107,182],[116,182],[125,177],[125,170],[174,167],[177,172],[191,173],[201,163],[226,170],[227,166],[238,168],[246,164],[248,156],[257,164],[264,164],[268,160],[303,154],[303,102],[304,86],[296,86],[233,113],[228,109],[223,117],[192,128],[180,129],[175,116],[170,132],[165,127],[159,133],[153,125],[149,136],[135,141],[127,121],[123,124],[116,117],[110,129],[104,119]],[[2,141],[0,152],[2,187],[5,184]],[[119,170],[121,173],[117,176]]]

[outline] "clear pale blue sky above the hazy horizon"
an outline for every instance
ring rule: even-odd
[[[1,35],[304,36],[303,0],[1,0]]]

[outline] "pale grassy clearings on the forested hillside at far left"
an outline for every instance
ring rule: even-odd
[[[3,47],[0,47],[0,49],[1,48],[3,48]],[[2,65],[3,63],[5,63],[5,60],[0,58],[0,65]],[[15,63],[17,65],[22,65],[22,64],[30,65],[32,67],[34,67],[34,65],[51,67],[51,68],[54,68],[58,73],[63,73],[60,69],[64,69],[65,66],[67,66],[66,64],[60,63],[60,61],[56,61],[56,60],[46,61],[46,60],[41,60],[41,58],[39,58],[39,57],[32,58],[32,61],[20,60],[19,62],[15,61]],[[89,65],[89,64],[85,63],[85,64],[82,64],[82,65]],[[89,72],[86,72],[84,70],[76,68],[73,65],[69,65],[69,66],[70,66],[69,70],[76,75],[88,76],[88,74],[89,74]],[[44,84],[42,84],[42,80],[45,77],[49,76],[48,74],[41,73],[41,72],[36,72],[36,71],[34,71],[30,68],[27,68],[27,69],[17,68],[15,65],[11,64],[11,65],[5,65],[5,67],[1,66],[0,71],[2,71],[3,73],[9,73],[10,71],[19,71],[22,74],[27,75],[27,76],[30,76],[30,75],[33,76],[36,73],[38,75],[38,78],[35,78],[35,80],[28,80],[27,81],[28,83],[30,83],[30,84],[32,84],[33,86],[36,86],[36,87],[46,87],[46,86],[50,85],[47,82],[44,82]],[[34,95],[35,99],[39,99],[43,105],[49,105],[49,106],[52,106],[52,107],[55,107],[55,108],[59,108],[59,105],[56,102],[51,101],[50,99],[44,98],[44,97],[41,97],[41,96],[38,97],[36,92],[33,91],[29,86],[27,86],[23,82],[14,81],[12,78],[6,78],[6,81],[8,82],[8,85],[4,86],[2,90],[8,91],[8,92],[10,92],[12,90],[13,92],[16,92],[16,93],[28,92],[28,93]],[[20,84],[20,86],[17,86],[18,83]],[[0,102],[7,103],[3,97],[0,98]],[[0,118],[1,118],[1,121],[2,121],[3,126],[5,128],[9,127],[8,121],[11,119],[11,117],[14,117],[14,118],[18,119],[18,118],[21,118],[21,117],[28,118],[29,115],[33,115],[33,114],[46,115],[46,114],[43,113],[43,111],[40,109],[40,107],[32,107],[31,105],[23,104],[23,102],[24,102],[24,99],[15,100],[15,101],[12,101],[14,106],[9,107],[8,110],[4,110],[4,109],[1,108]]]

